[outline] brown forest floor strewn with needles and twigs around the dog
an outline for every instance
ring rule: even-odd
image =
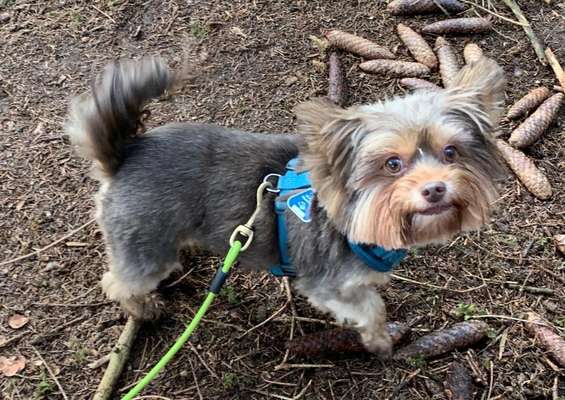
[[[469,16],[486,15],[479,7],[485,6],[514,19],[499,2],[475,1]],[[519,3],[565,63],[564,4]],[[379,0],[0,0],[0,356],[27,360],[15,376],[0,377],[0,398],[64,398],[47,366],[67,398],[90,398],[104,366],[88,365],[111,350],[125,323],[98,286],[105,256],[94,224],[40,254],[5,263],[55,242],[93,216],[96,184],[62,134],[69,98],[86,90],[110,60],[160,54],[178,65],[189,43],[196,42],[209,53],[206,73],[178,96],[153,104],[150,126],[194,120],[293,132],[292,107],[327,89],[323,55],[310,35],[337,27],[410,60],[399,45],[396,24],[421,27],[443,18],[391,17],[385,9]],[[556,84],[519,26],[494,17],[494,27],[486,35],[450,41],[461,51],[472,39],[503,65],[507,104],[537,85]],[[402,93],[395,79],[360,73],[359,58],[343,55],[343,60],[351,103]],[[527,151],[547,173],[553,197],[535,199],[510,175],[492,224],[445,246],[411,251],[395,271],[409,280],[393,279],[384,290],[390,320],[421,318],[407,341],[473,315],[490,325],[488,339],[428,361],[382,363],[368,355],[330,355],[288,361],[318,367],[280,369],[293,316],[290,307],[280,311],[287,301],[284,286],[270,276],[235,272],[191,344],[143,392],[144,398],[443,399],[447,366],[460,360],[471,371],[476,399],[563,399],[563,369],[520,319],[533,310],[561,335],[565,332],[565,263],[552,241],[554,234],[565,233],[564,109]],[[503,124],[505,135],[514,125]],[[143,326],[118,394],[142,377],[183,330],[215,262],[186,257],[185,270],[164,285],[170,313]],[[300,329],[326,328],[327,317],[304,299],[293,302],[302,317],[297,335]],[[15,314],[29,322],[11,328],[8,319]]]

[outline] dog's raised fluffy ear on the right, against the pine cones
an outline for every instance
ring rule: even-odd
[[[482,133],[492,133],[502,112],[505,86],[503,69],[481,57],[463,67],[448,89],[450,112],[469,120]]]

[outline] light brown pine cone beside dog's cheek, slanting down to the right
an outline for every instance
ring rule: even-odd
[[[545,200],[551,197],[551,184],[547,177],[541,172],[524,153],[509,146],[503,140],[497,140],[496,145],[506,163],[514,171],[518,179],[537,198]]]

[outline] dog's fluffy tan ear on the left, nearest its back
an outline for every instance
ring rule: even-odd
[[[359,113],[326,98],[299,104],[295,114],[298,132],[304,136],[304,166],[326,211],[339,218],[354,158],[354,136],[365,124]]]

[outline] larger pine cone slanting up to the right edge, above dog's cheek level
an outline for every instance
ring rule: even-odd
[[[514,129],[508,142],[517,148],[524,148],[534,143],[557,116],[563,98],[565,94],[557,93],[544,101],[532,115]]]

